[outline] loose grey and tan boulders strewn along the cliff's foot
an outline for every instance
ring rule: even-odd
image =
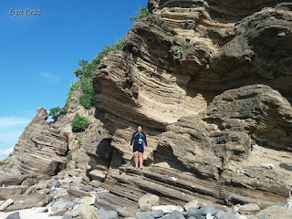
[[[134,168],[132,168],[135,171]],[[6,188],[9,189],[9,186]],[[52,197],[51,202],[43,207],[29,207],[29,203],[16,199],[0,201],[0,218],[3,219],[286,219],[292,217],[292,199],[287,203],[275,203],[266,209],[260,209],[256,203],[236,204],[225,206],[213,205],[206,201],[193,200],[183,206],[177,204],[161,205],[160,197],[146,193],[139,198],[138,203],[133,203],[127,209],[120,206],[120,209],[113,211],[110,208],[99,207],[102,193],[110,193],[102,187],[94,187],[81,183],[80,177],[69,177],[65,179],[52,180],[49,187],[44,189],[38,187],[42,193],[47,190],[47,195]],[[2,190],[3,191],[3,190]],[[34,195],[36,195],[34,193]],[[182,193],[182,195],[184,195]],[[31,200],[36,202],[37,200]],[[18,202],[18,203],[17,203]],[[22,207],[17,204],[22,204]],[[12,211],[16,208],[22,210]],[[135,209],[137,210],[135,212]]]

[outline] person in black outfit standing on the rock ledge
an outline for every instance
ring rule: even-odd
[[[137,131],[135,131],[131,136],[130,148],[133,146],[135,168],[139,168],[138,163],[140,162],[140,171],[143,170],[144,144],[147,146],[146,134],[142,132],[142,127],[138,126]]]

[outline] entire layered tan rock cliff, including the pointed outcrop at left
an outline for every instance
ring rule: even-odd
[[[193,198],[262,208],[285,201],[292,186],[283,168],[292,158],[292,4],[150,0],[148,8],[151,16],[100,62],[95,106],[71,101],[55,122],[37,110],[4,161],[0,185],[24,193],[51,177],[80,176],[110,190],[96,206],[122,216],[145,193],[182,205]],[[91,121],[80,133],[70,130],[77,112]],[[138,124],[149,141],[143,172],[130,167]]]

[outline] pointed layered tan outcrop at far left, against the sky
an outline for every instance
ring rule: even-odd
[[[7,173],[54,175],[64,168],[60,157],[68,151],[67,137],[59,133],[57,127],[49,126],[46,120],[47,110],[38,109],[36,117],[20,136],[14,154],[7,160],[14,163]]]

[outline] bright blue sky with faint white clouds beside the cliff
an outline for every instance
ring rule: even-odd
[[[129,17],[147,2],[0,2],[0,159],[12,151],[39,107],[64,105],[78,59],[90,60],[104,45],[125,36],[133,24]],[[26,16],[29,9],[41,15]],[[23,15],[16,16],[16,10]]]

